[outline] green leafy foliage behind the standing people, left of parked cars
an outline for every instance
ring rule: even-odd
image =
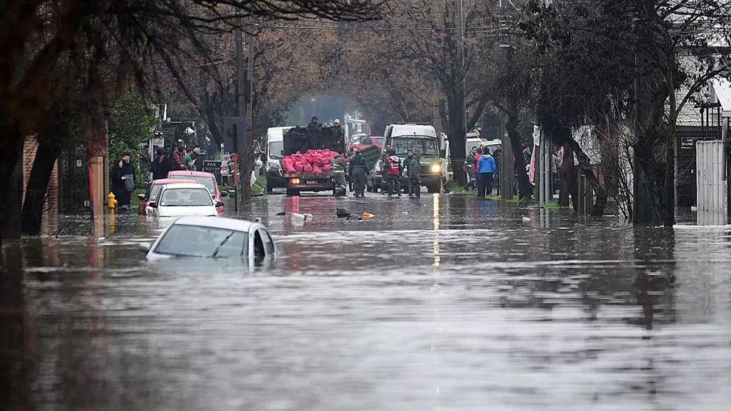
[[[110,170],[122,158],[125,151],[132,154],[135,165],[135,182],[140,186],[144,176],[140,171],[140,158],[145,143],[154,137],[156,119],[154,110],[139,91],[130,90],[113,104],[113,112],[109,118],[109,162]]]

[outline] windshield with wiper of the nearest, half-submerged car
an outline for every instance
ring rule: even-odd
[[[223,228],[176,224],[160,238],[156,254],[179,257],[241,257],[247,255],[249,233]]]

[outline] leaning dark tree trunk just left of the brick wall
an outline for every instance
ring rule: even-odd
[[[31,175],[26,184],[26,197],[23,201],[21,217],[23,234],[40,234],[48,182],[60,153],[61,148],[56,144],[44,141],[40,141],[38,144]]]

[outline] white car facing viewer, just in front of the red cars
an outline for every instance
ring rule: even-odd
[[[215,202],[211,193],[202,184],[170,184],[162,189],[155,203],[149,206],[158,217],[218,216],[216,207],[224,203]]]

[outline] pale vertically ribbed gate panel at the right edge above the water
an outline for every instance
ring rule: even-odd
[[[698,224],[726,224],[724,146],[721,140],[696,142]]]

